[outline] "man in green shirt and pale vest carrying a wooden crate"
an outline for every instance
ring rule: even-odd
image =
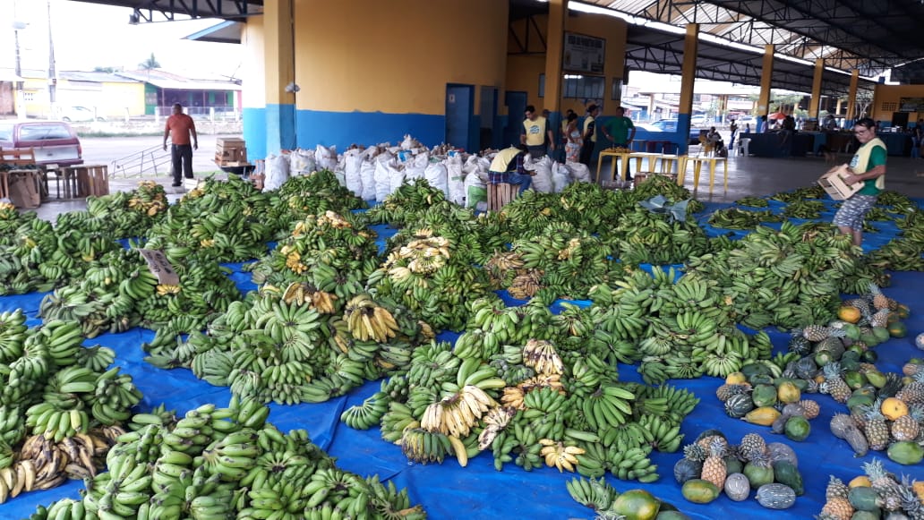
[[[841,204],[834,215],[834,225],[845,235],[853,236],[855,246],[863,244],[863,221],[876,205],[876,198],[885,189],[885,143],[876,137],[876,122],[864,117],[854,125],[854,136],[860,147],[848,164],[851,175],[844,177],[848,185],[863,182],[863,187]]]

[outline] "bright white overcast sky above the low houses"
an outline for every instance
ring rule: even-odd
[[[129,25],[128,7],[101,6],[75,0],[50,0],[55,68],[139,68],[151,54],[171,72],[205,72],[232,76],[241,62],[241,45],[192,42],[184,36],[221,20],[199,19]],[[0,0],[0,68],[16,63],[14,22],[23,69],[48,69],[49,0]],[[239,74],[239,71],[237,71]],[[195,77],[195,75],[192,75]]]

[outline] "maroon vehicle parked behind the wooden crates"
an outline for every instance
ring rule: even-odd
[[[64,121],[0,121],[0,148],[31,148],[40,165],[83,163],[80,139]]]

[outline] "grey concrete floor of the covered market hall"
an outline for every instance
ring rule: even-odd
[[[838,163],[845,163],[849,157],[841,155]],[[693,186],[693,166],[687,164],[685,183],[688,189],[693,190],[694,197],[703,202],[733,202],[746,196],[766,196],[777,191],[786,191],[796,187],[808,187],[824,174],[831,163],[826,163],[821,157],[804,158],[762,158],[762,157],[729,157],[728,158],[728,190],[723,189],[723,167],[716,168],[715,186],[709,189],[708,166],[703,165],[700,174],[699,186]],[[633,171],[635,165],[633,163]],[[643,167],[643,169],[645,169]],[[602,176],[606,177],[610,171],[609,160],[602,164]],[[591,169],[591,175],[596,168]],[[914,199],[924,199],[924,159],[911,159],[908,157],[889,157],[886,189],[904,193]],[[215,174],[219,178],[226,176],[221,172]],[[130,190],[138,186],[139,177],[110,178],[111,191]],[[182,187],[171,187],[171,178],[168,176],[148,177],[164,185],[171,202],[179,199],[185,192]],[[54,187],[52,188],[54,191]],[[35,210],[39,216],[46,220],[55,220],[60,212],[83,210],[86,208],[84,200],[47,200]],[[31,210],[30,210],[31,211]]]

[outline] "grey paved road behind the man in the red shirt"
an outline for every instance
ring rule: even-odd
[[[213,163],[215,138],[213,135],[199,136],[199,150],[192,153],[192,169],[196,173],[218,170]],[[161,148],[164,142],[160,136],[131,138],[80,138],[83,145],[83,162],[86,164],[107,164],[110,175],[138,176],[141,173],[141,152],[144,152],[143,176],[170,175],[170,152]],[[128,159],[127,159],[128,158]],[[124,164],[124,170],[116,168],[114,162]],[[154,165],[156,164],[156,175]]]

